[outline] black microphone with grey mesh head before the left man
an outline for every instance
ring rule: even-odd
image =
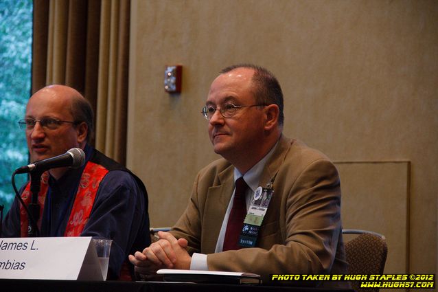
[[[28,164],[27,166],[21,166],[15,170],[16,173],[27,173],[27,172],[44,172],[50,168],[58,167],[71,167],[80,168],[84,165],[85,153],[81,148],[71,148],[66,153],[36,161],[33,164]]]

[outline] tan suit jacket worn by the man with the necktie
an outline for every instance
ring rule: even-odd
[[[260,186],[275,177],[274,194],[256,247],[214,254],[233,194],[233,166],[218,159],[198,172],[187,209],[172,228],[189,252],[207,254],[211,271],[270,274],[345,273],[338,172],[322,153],[282,136]],[[276,176],[275,176],[276,175]]]

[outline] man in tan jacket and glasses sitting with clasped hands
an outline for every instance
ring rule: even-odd
[[[137,272],[247,271],[264,283],[273,273],[345,273],[338,172],[319,151],[282,135],[276,78],[255,65],[227,67],[211,84],[203,114],[223,158],[200,170],[172,230],[130,256]],[[246,208],[258,186],[271,184],[273,195],[255,247],[223,251],[239,177],[249,186]]]

